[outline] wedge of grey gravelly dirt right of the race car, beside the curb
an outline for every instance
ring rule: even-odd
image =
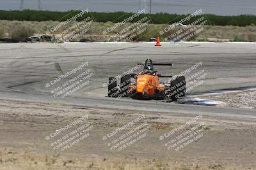
[[[222,101],[227,106],[235,108],[251,108],[256,109],[256,91],[231,92],[227,94],[204,96],[204,99],[214,101]]]

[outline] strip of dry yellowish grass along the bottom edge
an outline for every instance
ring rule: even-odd
[[[241,166],[222,166],[220,164],[183,164],[172,159],[113,159],[94,157],[90,159],[65,159],[62,157],[39,156],[32,153],[1,152],[0,169],[92,169],[92,170],[210,170],[248,169]],[[251,168],[253,169],[253,168]]]

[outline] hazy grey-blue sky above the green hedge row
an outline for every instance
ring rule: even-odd
[[[39,0],[23,0],[24,9],[38,10]],[[83,4],[89,11],[132,11],[141,8],[141,1],[150,0],[40,0],[42,10],[67,11],[81,8]],[[0,10],[20,10],[21,0],[0,0]],[[152,0],[152,13],[189,13],[200,5],[204,13],[216,15],[256,15],[256,0]]]

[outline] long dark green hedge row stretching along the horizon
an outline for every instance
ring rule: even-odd
[[[0,20],[27,20],[27,21],[65,21],[68,18],[80,13],[81,11],[34,11],[34,10],[23,10],[23,11],[3,11],[0,10]],[[85,13],[82,17],[77,18],[77,21],[81,21],[86,17],[93,17],[95,22],[122,22],[125,18],[133,15],[133,13],[125,12],[92,12]],[[122,17],[120,17],[122,16]],[[173,24],[174,22],[179,22],[182,18],[188,15],[177,15],[170,13],[156,13],[156,14],[142,14],[140,17],[134,18],[132,22],[136,22],[143,17],[150,17],[154,24]],[[218,16],[218,15],[202,15],[209,19],[207,25],[234,25],[234,26],[246,26],[255,25],[256,16],[255,15],[239,15],[239,16]],[[193,17],[189,22],[184,22],[183,24],[189,24],[194,20],[202,17]]]

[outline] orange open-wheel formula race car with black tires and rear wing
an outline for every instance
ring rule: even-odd
[[[171,66],[172,63],[153,63],[147,59],[144,69],[139,74],[123,74],[120,85],[118,78],[110,77],[108,81],[109,97],[132,97],[133,99],[168,99],[177,101],[185,96],[186,80],[184,76],[163,76],[158,74],[154,66]],[[160,82],[159,78],[168,78]]]

